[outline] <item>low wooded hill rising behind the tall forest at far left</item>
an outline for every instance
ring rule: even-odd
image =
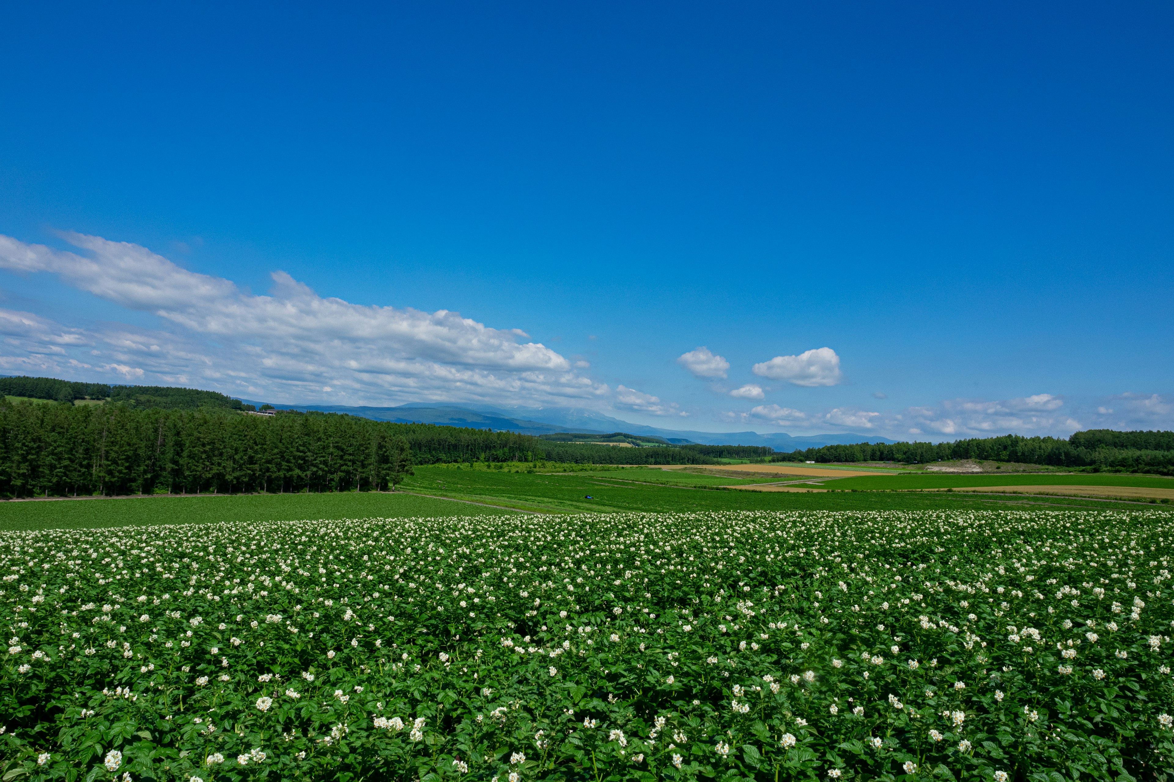
[[[242,404],[238,399],[197,388],[108,386],[106,383],[56,380],[55,378],[0,378],[0,395],[47,399],[58,402],[88,399],[122,402],[139,408],[158,407],[177,410],[195,410],[201,407],[217,407],[229,410],[252,409],[251,404]]]

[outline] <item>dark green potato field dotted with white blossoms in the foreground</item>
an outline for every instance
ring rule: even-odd
[[[0,778],[1165,780],[1170,521],[4,532]]]

